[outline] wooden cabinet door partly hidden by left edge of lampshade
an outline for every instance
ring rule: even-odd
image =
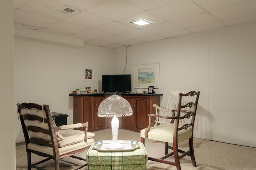
[[[94,130],[105,129],[105,118],[98,116],[98,108],[100,103],[104,100],[104,97],[94,97]]]

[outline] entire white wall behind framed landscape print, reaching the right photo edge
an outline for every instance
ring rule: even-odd
[[[256,22],[250,22],[128,46],[126,74],[134,78],[134,64],[159,62],[160,88],[155,91],[164,94],[162,106],[168,91],[201,91],[195,137],[256,147],[255,30]],[[116,63],[124,62],[125,52],[115,50]],[[115,66],[118,73],[124,70]]]

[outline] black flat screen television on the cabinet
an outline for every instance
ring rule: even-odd
[[[130,92],[132,90],[131,74],[103,74],[102,91],[103,92]]]

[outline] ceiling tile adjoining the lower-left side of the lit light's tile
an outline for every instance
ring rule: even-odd
[[[102,32],[107,32],[110,34],[120,34],[123,32],[135,30],[136,28],[114,21],[114,22],[110,22],[109,24],[105,24],[105,25],[96,27],[94,29],[102,31]]]

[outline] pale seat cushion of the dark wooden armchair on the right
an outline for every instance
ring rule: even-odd
[[[173,132],[175,125],[172,123],[164,123],[158,126],[151,127],[148,131],[148,138],[152,140],[160,140],[163,142],[173,143]],[[145,130],[140,131],[140,137],[145,138]],[[192,136],[190,128],[178,131],[178,142],[187,140]]]

